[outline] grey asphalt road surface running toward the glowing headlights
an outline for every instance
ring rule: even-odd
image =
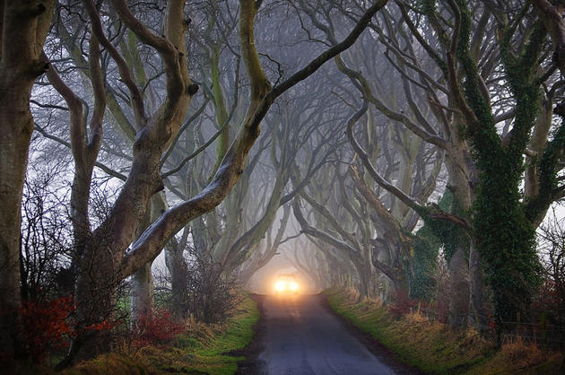
[[[328,311],[322,296],[257,298],[263,316],[257,338],[260,349],[253,372],[272,375],[411,373],[387,358],[389,353],[378,355],[383,357],[380,359],[371,353]]]

